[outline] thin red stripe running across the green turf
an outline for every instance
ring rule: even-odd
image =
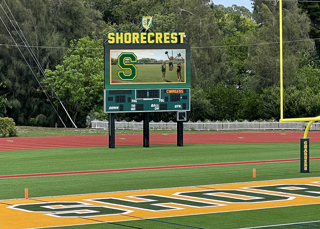
[[[320,157],[312,157],[312,158],[310,158],[310,160],[312,160],[312,161],[320,160]],[[265,160],[265,161],[248,161],[248,162],[222,162],[222,163],[194,164],[194,165],[170,165],[170,166],[141,167],[141,168],[129,168],[129,169],[89,170],[89,171],[74,171],[74,172],[53,172],[53,173],[4,175],[4,176],[0,176],[0,179],[64,176],[64,175],[108,173],[108,172],[132,172],[132,171],[143,171],[143,170],[186,169],[186,168],[196,168],[196,167],[214,167],[214,166],[227,166],[227,165],[246,165],[246,164],[263,164],[263,163],[297,162],[297,161],[300,161],[300,158]]]

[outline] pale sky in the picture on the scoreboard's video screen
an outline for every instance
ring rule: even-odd
[[[121,52],[133,52],[138,59],[142,58],[150,58],[150,59],[156,59],[156,60],[168,60],[167,55],[165,54],[165,51],[168,51],[169,57],[172,55],[173,51],[173,58],[177,56],[178,53],[181,54],[181,57],[184,58],[184,50],[111,50],[111,58],[117,59],[118,56],[121,54]],[[118,55],[118,56],[117,56]],[[181,58],[180,57],[180,58]]]

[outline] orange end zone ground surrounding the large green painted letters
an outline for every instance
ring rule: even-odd
[[[319,183],[314,183],[319,182]],[[180,187],[180,188],[167,188],[167,189],[153,189],[153,190],[138,190],[138,191],[126,191],[126,192],[114,192],[114,193],[96,193],[96,194],[84,194],[84,195],[70,195],[70,196],[55,196],[55,197],[43,197],[33,199],[18,199],[18,200],[3,200],[0,201],[0,228],[1,229],[29,229],[39,227],[53,227],[53,226],[67,226],[67,225],[83,225],[93,224],[98,221],[102,222],[115,222],[115,221],[128,221],[138,218],[161,218],[161,217],[175,217],[175,216],[186,216],[196,214],[208,214],[218,212],[229,212],[229,211],[240,211],[240,210],[252,210],[252,209],[265,209],[265,208],[276,208],[286,206],[297,206],[307,204],[319,204],[320,198],[314,198],[310,196],[302,196],[297,194],[284,194],[286,190],[279,189],[279,193],[265,191],[265,190],[254,190],[250,187],[254,186],[267,186],[267,185],[296,185],[306,184],[313,186],[320,186],[320,178],[300,178],[300,179],[287,179],[287,180],[273,180],[273,181],[258,181],[249,183],[236,183],[236,184],[222,184],[222,185],[209,185],[209,186],[194,186],[194,187]],[[229,196],[232,198],[243,198],[250,199],[248,197],[237,195],[237,194],[224,194],[228,190],[243,190],[258,193],[269,193],[278,194],[281,196],[291,197],[290,200],[278,200],[268,202],[257,202],[245,203],[245,202],[223,202],[209,199],[199,199],[195,197],[179,196],[177,193],[181,192],[195,192],[195,191],[210,191],[211,189],[220,189],[221,192],[217,193],[220,196]],[[212,190],[213,191],[213,190]],[[281,193],[282,192],[282,193]],[[215,193],[214,193],[215,194]],[[180,198],[193,201],[204,201],[207,203],[220,204],[220,206],[208,206],[197,208],[194,206],[177,205],[174,203],[163,204],[164,206],[178,207],[179,209],[170,209],[162,211],[150,211],[147,209],[137,209],[129,206],[116,206],[109,203],[98,203],[90,201],[90,199],[97,198],[119,198],[125,200],[141,201],[130,196],[139,195],[161,195],[171,198]],[[250,196],[250,193],[244,195]],[[252,193],[254,196],[254,193]],[[142,197],[143,198],[143,197]],[[8,208],[10,205],[16,204],[32,204],[32,203],[44,203],[45,202],[84,202],[90,203],[90,206],[109,206],[113,208],[120,208],[124,210],[130,210],[132,212],[126,215],[108,215],[108,216],[96,216],[96,217],[54,217],[49,214],[50,212],[27,212],[20,209]],[[174,199],[173,201],[174,202]],[[93,221],[98,220],[98,221]]]

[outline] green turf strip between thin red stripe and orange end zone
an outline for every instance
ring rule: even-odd
[[[308,174],[300,173],[299,162],[280,162],[224,167],[10,178],[0,180],[0,200],[23,198],[24,188],[28,188],[29,196],[34,198],[271,179],[320,177],[319,166],[320,161],[311,161],[310,170],[312,172]],[[279,173],[279,167],[281,168],[281,173]],[[252,168],[257,170],[257,178],[252,178]]]

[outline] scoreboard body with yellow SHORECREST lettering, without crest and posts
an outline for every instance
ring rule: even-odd
[[[105,35],[104,112],[190,111],[190,44],[185,33],[130,34]],[[133,36],[140,43],[132,43]],[[143,43],[143,37],[156,40]],[[165,43],[166,37],[172,41]]]

